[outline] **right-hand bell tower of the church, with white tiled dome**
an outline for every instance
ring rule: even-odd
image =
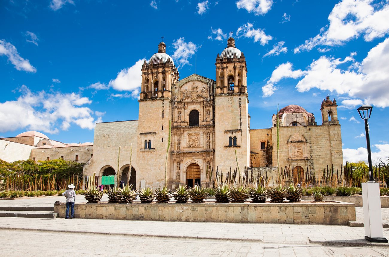
[[[215,64],[215,166],[226,171],[237,168],[238,161],[242,172],[250,158],[247,67],[232,37]]]

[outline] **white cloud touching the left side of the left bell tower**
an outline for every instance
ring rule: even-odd
[[[133,97],[137,97],[142,83],[141,68],[143,63],[144,59],[139,59],[130,68],[122,69],[114,80],[110,80],[108,86],[118,91],[130,91]]]

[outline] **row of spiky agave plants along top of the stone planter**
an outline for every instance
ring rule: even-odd
[[[287,187],[281,185],[263,187],[259,184],[252,188],[246,188],[243,185],[230,187],[224,184],[214,189],[214,197],[217,203],[243,203],[248,199],[251,199],[253,203],[265,203],[266,200],[270,200],[271,203],[293,203],[301,201],[303,192],[303,188],[296,187],[293,184]],[[312,194],[315,201],[323,200],[321,191],[314,190]],[[154,199],[157,203],[167,203],[172,197],[175,203],[186,203],[189,199],[193,203],[204,203],[209,193],[207,188],[200,188],[199,186],[187,189],[186,186],[180,185],[175,191],[171,191],[166,186],[156,189],[142,188],[138,191],[133,190],[131,186],[125,186],[123,189],[110,189],[108,191],[108,202],[133,203],[137,195],[141,203],[151,203]],[[88,188],[85,191],[84,197],[88,203],[98,203],[103,197],[103,192],[98,191],[96,188]]]

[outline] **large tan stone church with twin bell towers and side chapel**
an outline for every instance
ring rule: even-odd
[[[136,189],[155,188],[165,184],[166,158],[168,186],[173,188],[212,184],[216,167],[222,172],[261,167],[274,174],[277,116],[271,128],[250,128],[246,60],[233,38],[228,38],[215,64],[216,80],[196,74],[179,80],[165,43],[159,43],[158,52],[142,65],[139,119],[96,124],[93,157],[84,175],[96,175],[100,182],[105,175],[124,182],[130,176]],[[280,168],[301,174],[326,165],[340,168],[342,139],[335,99],[324,99],[321,113],[322,125],[317,125],[315,116],[301,106],[280,109]]]

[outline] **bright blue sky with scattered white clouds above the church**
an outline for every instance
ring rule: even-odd
[[[251,128],[270,127],[277,104],[303,106],[320,125],[329,95],[345,160],[367,159],[361,104],[374,106],[373,159],[389,156],[388,0],[2,0],[0,17],[0,137],[93,141],[95,122],[138,118],[140,66],[161,36],[180,78],[215,79],[232,31]]]

